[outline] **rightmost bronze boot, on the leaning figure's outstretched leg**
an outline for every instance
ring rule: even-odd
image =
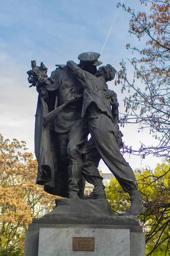
[[[139,194],[139,192],[136,190],[133,195],[130,196],[130,208],[127,210],[127,212],[123,212],[120,214],[120,216],[138,216],[140,214],[144,214],[144,207],[141,203],[142,195]]]

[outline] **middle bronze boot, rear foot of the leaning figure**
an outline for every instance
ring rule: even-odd
[[[85,199],[106,199],[105,186],[101,183],[94,185],[93,191]]]

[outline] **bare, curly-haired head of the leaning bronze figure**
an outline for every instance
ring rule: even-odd
[[[114,79],[116,70],[110,64],[106,66],[99,67],[95,76],[104,80],[105,82],[111,81]]]

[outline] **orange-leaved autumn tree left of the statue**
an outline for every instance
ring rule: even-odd
[[[26,143],[0,135],[0,255],[23,255],[25,231],[32,218],[54,207],[54,195],[36,185],[37,160]]]

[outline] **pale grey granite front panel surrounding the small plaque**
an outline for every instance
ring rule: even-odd
[[[94,251],[73,251],[73,237],[94,237]],[[40,228],[38,256],[130,256],[129,230]]]

